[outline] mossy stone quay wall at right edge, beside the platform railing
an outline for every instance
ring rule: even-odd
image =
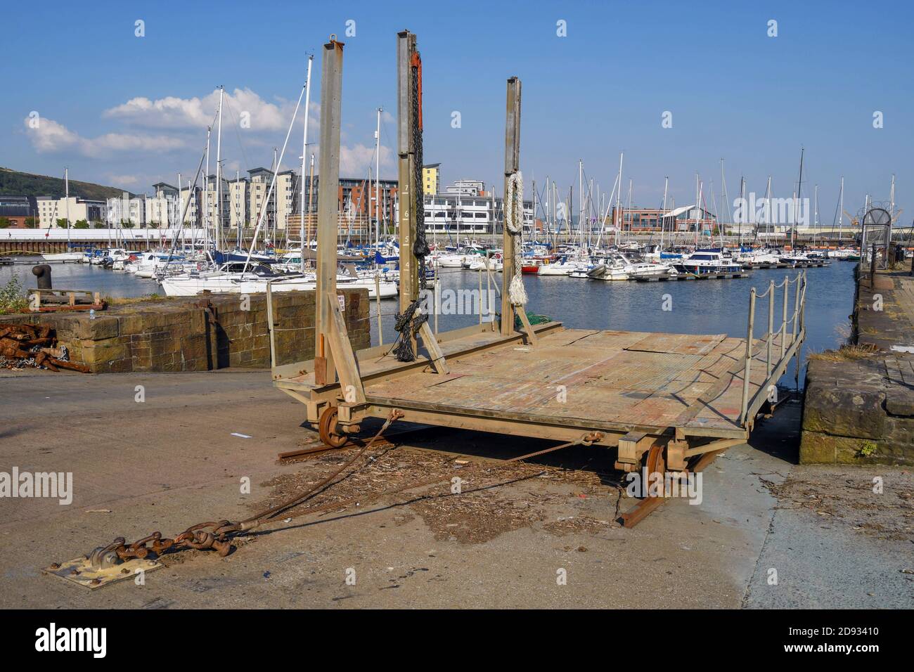
[[[811,357],[801,464],[914,465],[914,277],[911,261],[857,266],[851,343]]]

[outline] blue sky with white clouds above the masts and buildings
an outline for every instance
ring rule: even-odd
[[[505,79],[517,75],[525,176],[542,185],[549,175],[563,193],[573,184],[576,200],[578,159],[609,192],[621,151],[623,197],[632,178],[636,204],[659,204],[664,176],[677,204],[693,201],[696,171],[719,194],[721,157],[731,200],[740,176],[761,194],[771,175],[775,195],[789,197],[802,145],[804,196],[820,185],[821,220],[833,218],[842,175],[856,213],[866,193],[887,199],[895,173],[909,221],[912,15],[904,3],[795,1],[10,3],[0,165],[48,175],[69,165],[73,178],[138,192],[186,178],[220,84],[233,111],[223,117],[227,173],[270,165],[308,51],[318,54],[317,137],[320,46],[335,33],[345,41],[345,174],[364,176],[375,110],[394,112],[396,33],[409,28],[423,59],[425,160],[441,162],[445,182],[497,180],[501,190]],[[350,19],[356,35],[345,37]],[[246,109],[251,127],[239,129],[230,115]],[[672,128],[661,125],[667,111]],[[382,176],[395,174],[395,133],[386,115]],[[300,128],[291,142],[286,165],[301,154]]]

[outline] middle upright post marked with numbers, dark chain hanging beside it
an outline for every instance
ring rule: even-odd
[[[410,63],[416,51],[416,36],[404,30],[397,34],[397,154],[399,179],[399,309],[402,313],[419,298],[419,263],[412,253],[416,240],[416,156],[413,129],[415,104]]]

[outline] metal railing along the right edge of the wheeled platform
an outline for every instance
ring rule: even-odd
[[[796,285],[793,298],[793,312],[790,319],[787,318],[788,304],[790,303],[790,286]],[[781,300],[781,325],[774,328],[774,301],[776,290],[783,287],[783,299]],[[755,339],[755,304],[759,299],[768,297],[768,331],[765,334],[761,347],[765,352],[765,382],[761,385],[756,394],[749,399],[749,376],[752,372],[752,359],[759,358],[761,347],[758,353],[753,354],[753,341]],[[806,272],[797,273],[796,277],[791,279],[786,276],[781,283],[775,284],[773,280],[768,283],[768,289],[762,293],[757,293],[755,287],[749,292],[749,326],[746,333],[746,355],[743,364],[743,391],[742,403],[739,411],[739,425],[746,424],[749,416],[749,409],[755,406],[758,395],[767,394],[771,387],[772,372],[777,373],[784,365],[785,359],[793,356],[793,351],[799,346],[798,339],[802,342],[805,335],[803,330],[803,320],[806,308]],[[790,325],[791,334],[788,338],[787,327]],[[777,361],[772,360],[772,351],[774,350],[775,336],[781,336],[781,352],[778,354]]]

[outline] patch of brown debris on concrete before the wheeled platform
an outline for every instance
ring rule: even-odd
[[[301,462],[299,471],[278,475],[261,486],[270,496],[250,505],[251,511],[266,509],[314,488],[361,450],[358,446],[319,453]],[[433,485],[427,485],[433,482]],[[412,484],[423,484],[412,488]],[[385,494],[390,491],[399,491]],[[460,495],[460,496],[454,496]],[[481,544],[506,532],[537,527],[564,536],[572,532],[597,532],[618,528],[620,485],[607,484],[594,472],[549,464],[497,463],[467,459],[416,447],[388,445],[360,456],[314,496],[277,516],[289,521],[311,514],[339,515],[372,506],[403,507],[403,520],[419,516],[438,541]],[[611,520],[590,516],[550,519],[549,508],[570,499],[612,496],[617,502]],[[340,507],[333,507],[334,503]],[[329,507],[329,510],[326,510]],[[395,518],[396,519],[396,518]]]

